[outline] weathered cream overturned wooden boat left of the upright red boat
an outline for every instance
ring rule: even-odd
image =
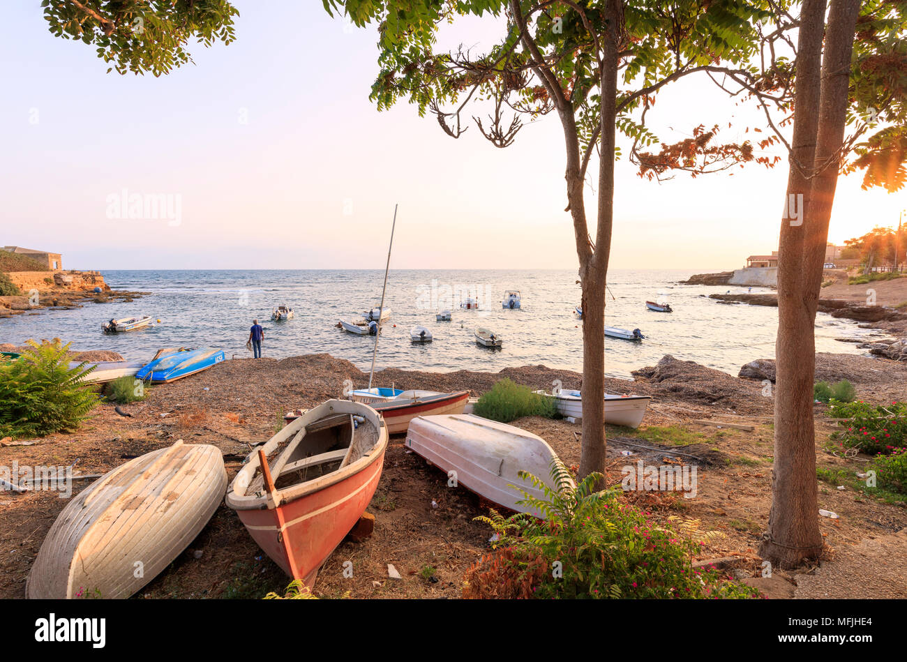
[[[227,488],[215,446],[146,453],[70,501],[44,538],[25,597],[129,598],[195,540]]]

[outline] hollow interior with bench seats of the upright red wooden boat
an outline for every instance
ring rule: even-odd
[[[282,449],[276,449],[278,460],[271,467],[275,486],[283,490],[340,471],[366,455],[377,441],[375,426],[353,414],[335,414],[308,423]],[[259,492],[262,487],[259,470],[249,492]]]

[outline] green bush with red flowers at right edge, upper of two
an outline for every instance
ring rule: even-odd
[[[862,453],[891,453],[907,445],[907,403],[875,405],[864,402],[831,401],[828,413],[844,427],[833,439],[841,449],[855,448]]]

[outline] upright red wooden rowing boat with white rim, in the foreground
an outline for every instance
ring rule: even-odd
[[[311,588],[372,501],[386,448],[374,409],[328,400],[249,454],[227,505],[281,569]]]

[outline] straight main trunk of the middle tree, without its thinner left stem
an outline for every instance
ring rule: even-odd
[[[604,473],[607,452],[604,326],[611,228],[614,219],[614,141],[617,120],[618,38],[622,21],[621,0],[610,0],[605,13],[608,29],[601,37],[598,228],[595,253],[588,267],[581,270],[583,353],[580,480],[591,472]],[[603,490],[605,484],[602,482],[597,487]]]

